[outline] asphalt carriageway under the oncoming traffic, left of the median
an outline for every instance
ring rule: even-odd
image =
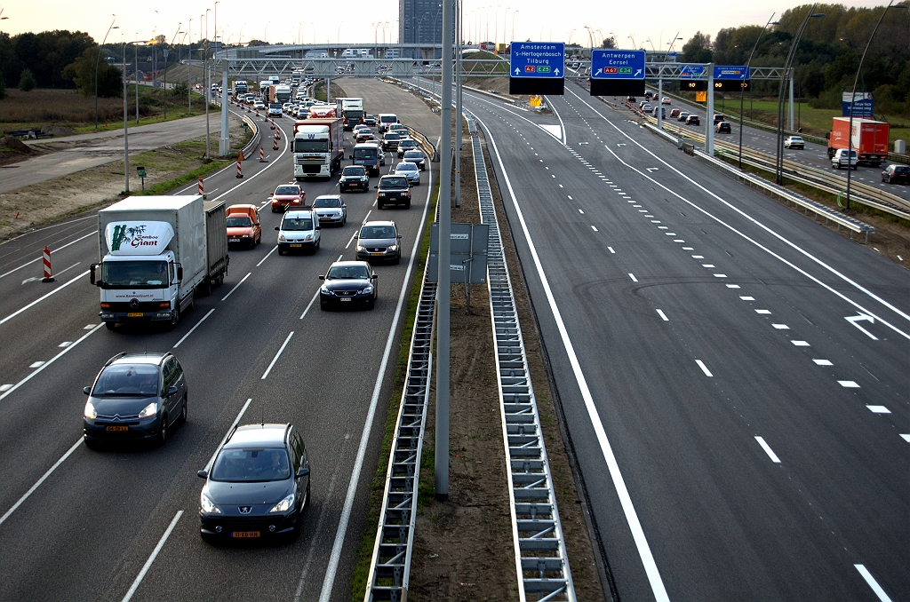
[[[439,128],[407,93],[366,82],[359,90],[370,112]],[[293,180],[292,122],[277,121],[285,132],[279,150],[268,150],[267,163],[246,161],[242,180],[234,166],[209,176],[209,199],[265,206],[275,186]],[[435,174],[423,177],[410,210],[379,211],[372,191],[346,194],[348,224],[322,229],[313,256],[278,256],[280,216],[266,208],[262,244],[232,249],[224,285],[198,298],[169,332],[110,332],[99,322],[98,290],[86,274],[97,261],[95,216],[0,246],[0,599],[123,600],[131,591],[133,600],[349,599],[399,351],[401,298],[430,218]],[[337,182],[304,187],[312,199],[337,192]],[[359,224],[376,218],[395,220],[403,234],[400,265],[376,266],[376,308],[320,311],[317,276],[339,257],[354,258]],[[54,284],[35,279],[45,245],[54,250]],[[159,448],[88,449],[82,386],[117,352],[146,350],[173,350],[184,366],[187,424]],[[293,423],[308,446],[312,503],[302,535],[278,546],[207,545],[198,535],[196,472],[233,424],[260,420]]]

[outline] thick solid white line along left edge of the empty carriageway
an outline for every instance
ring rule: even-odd
[[[525,222],[524,214],[521,212],[521,206],[518,204],[518,198],[515,196],[515,191],[511,186],[511,179],[509,178],[509,174],[506,171],[505,165],[502,163],[502,156],[500,155],[499,148],[496,145],[496,140],[490,133],[490,128],[484,125],[480,119],[478,119],[478,122],[486,130],[488,140],[493,146],[493,152],[496,153],[496,159],[500,165],[502,176],[504,177],[506,186],[509,189],[512,206],[515,207],[515,212],[518,215],[519,222],[521,223],[521,230],[524,233],[525,240],[528,242],[528,246],[531,249],[531,258],[534,260],[534,266],[537,270],[537,274],[541,278],[541,285],[543,286],[544,295],[547,297],[547,302],[550,305],[550,311],[553,315],[553,319],[556,321],[557,329],[560,332],[562,345],[566,350],[566,355],[569,357],[569,363],[571,364],[572,372],[575,376],[576,382],[578,383],[579,389],[581,390],[581,398],[584,400],[585,408],[588,410],[588,417],[591,420],[591,426],[593,427],[594,434],[597,436],[598,443],[601,446],[603,459],[606,462],[608,469],[610,470],[610,477],[613,481],[613,487],[616,488],[616,494],[620,499],[622,512],[625,515],[626,522],[629,525],[629,530],[632,532],[632,538],[635,541],[635,546],[638,548],[639,557],[642,558],[642,565],[644,567],[645,574],[648,576],[648,581],[651,584],[653,595],[656,598],[657,602],[669,602],[670,597],[667,595],[666,587],[663,586],[661,572],[657,568],[657,563],[654,562],[654,557],[651,553],[651,546],[648,544],[648,539],[644,535],[642,523],[638,518],[638,513],[636,512],[634,505],[632,504],[632,496],[630,496],[629,489],[626,487],[625,481],[622,479],[622,473],[620,472],[620,467],[616,461],[616,457],[613,455],[610,440],[607,438],[607,433],[603,429],[603,421],[601,419],[600,412],[598,411],[597,406],[594,404],[594,397],[591,395],[591,388],[588,386],[587,378],[581,371],[581,363],[579,362],[578,356],[575,353],[574,346],[571,344],[569,331],[566,329],[565,323],[562,321],[562,315],[559,306],[556,305],[556,299],[553,296],[553,292],[550,287],[550,281],[547,279],[547,276],[543,271],[541,257],[537,254],[537,247],[534,246],[534,241],[531,238],[531,232],[528,229],[528,224]],[[325,600],[320,600],[320,602],[328,602],[328,597]]]

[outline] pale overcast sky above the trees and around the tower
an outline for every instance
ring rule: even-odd
[[[170,41],[177,31],[187,32],[197,40],[205,35],[208,12],[208,37],[215,35],[215,9],[217,28],[224,32],[226,42],[248,42],[251,38],[268,42],[297,42],[324,44],[339,39],[349,43],[397,41],[398,0],[346,0],[345,2],[304,2],[272,4],[278,10],[266,10],[266,5],[249,0],[221,0],[218,3],[159,0],[158,2],[123,2],[122,0],[93,0],[92,2],[64,2],[61,0],[0,0],[0,9],[7,20],[0,21],[0,30],[15,35],[22,32],[39,32],[53,29],[86,31],[96,40],[105,37],[111,21],[119,29],[111,31],[108,42],[148,39],[153,34],[167,35]],[[440,0],[441,4],[441,0]],[[683,38],[676,48],[696,31],[710,35],[721,27],[735,25],[764,25],[772,13],[805,4],[787,0],[646,0],[639,2],[606,2],[605,0],[576,0],[567,5],[549,0],[500,0],[481,3],[464,0],[465,37],[476,41],[476,32],[490,41],[511,41],[514,24],[515,39],[531,38],[535,41],[575,42],[588,45],[589,25],[593,36],[600,38],[615,35],[623,48],[631,48],[632,38],[637,46],[648,49],[666,48],[676,32]],[[845,2],[854,6],[884,6],[881,0],[854,0]],[[319,10],[312,7],[319,6]],[[344,11],[339,10],[344,5]],[[517,9],[517,10],[516,10]],[[294,16],[298,13],[299,16]],[[114,14],[116,14],[116,19]],[[362,16],[355,16],[362,15]],[[489,17],[489,18],[488,18]],[[192,24],[190,24],[192,19]],[[181,24],[182,25],[178,25]],[[383,31],[384,30],[384,31]],[[572,31],[574,30],[574,32]],[[600,33],[598,33],[598,30]],[[489,36],[487,35],[489,32]],[[495,33],[495,35],[494,35]],[[571,35],[571,40],[570,40]],[[631,37],[630,37],[631,36]],[[178,35],[178,37],[184,37]]]

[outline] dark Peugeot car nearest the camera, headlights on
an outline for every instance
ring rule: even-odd
[[[199,535],[208,542],[300,534],[309,505],[309,459],[292,425],[238,426],[217,451],[199,493]]]

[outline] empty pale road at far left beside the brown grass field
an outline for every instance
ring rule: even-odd
[[[235,115],[231,115],[231,120],[236,119]],[[209,115],[209,120],[212,144],[217,151],[218,135],[221,131],[221,114],[214,112]],[[197,138],[200,135],[206,135],[205,115],[175,119],[160,124],[130,127],[129,154],[130,156],[136,155],[153,148]],[[41,142],[45,143],[45,141]],[[76,145],[2,167],[3,178],[0,178],[0,193],[123,159],[123,130],[50,138],[46,142],[73,142]]]

